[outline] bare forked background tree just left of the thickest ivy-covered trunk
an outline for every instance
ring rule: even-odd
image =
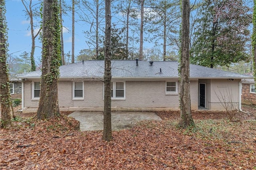
[[[35,39],[38,36],[38,34],[41,31],[41,28],[38,30],[38,32],[36,33],[36,35],[34,35],[34,21],[33,21],[33,10],[32,10],[32,0],[29,1],[29,5],[28,7],[26,6],[26,1],[22,0],[22,4],[24,5],[26,12],[29,16],[30,19],[30,33],[31,33],[31,52],[30,52],[30,63],[31,63],[31,71],[36,71],[36,63],[35,63],[35,59],[34,59],[34,53],[35,53],[35,48],[36,48],[36,43],[35,43]]]

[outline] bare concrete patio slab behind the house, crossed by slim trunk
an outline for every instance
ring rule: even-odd
[[[69,115],[80,121],[80,130],[103,130],[102,112],[75,111]],[[143,120],[162,121],[162,119],[153,112],[138,111],[116,111],[111,112],[112,130],[121,130],[132,128],[136,122]]]

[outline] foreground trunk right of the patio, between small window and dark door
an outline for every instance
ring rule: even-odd
[[[179,126],[187,128],[193,126],[190,102],[190,78],[189,78],[189,56],[190,56],[190,3],[182,0],[182,32],[181,32],[181,57],[180,57],[180,122]]]

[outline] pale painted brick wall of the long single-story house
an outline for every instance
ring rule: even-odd
[[[179,85],[178,85],[179,86]],[[126,81],[125,100],[112,100],[112,107],[179,108],[179,95],[166,95],[166,81]],[[180,88],[178,87],[180,91]],[[37,108],[32,100],[32,81],[24,82],[24,107]],[[192,110],[198,109],[198,81],[190,82]],[[72,99],[72,81],[59,81],[60,107],[104,107],[102,81],[84,81],[84,100]]]

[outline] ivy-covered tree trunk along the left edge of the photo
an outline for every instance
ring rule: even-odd
[[[1,103],[1,127],[11,125],[11,99],[8,77],[7,59],[7,24],[6,24],[5,0],[0,0],[0,103]]]

